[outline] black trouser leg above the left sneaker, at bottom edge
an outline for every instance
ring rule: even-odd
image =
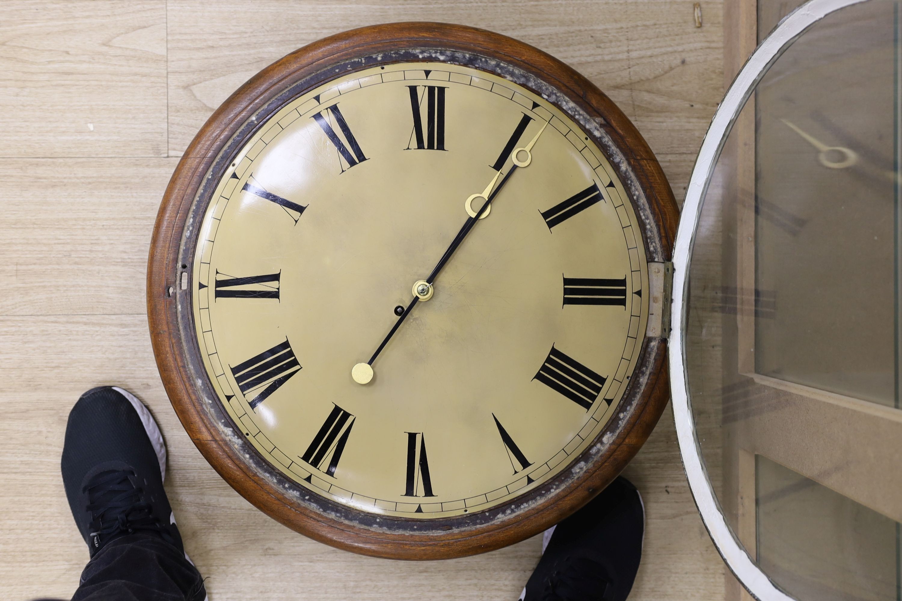
[[[110,542],[81,573],[72,601],[204,601],[200,572],[185,554],[155,536]]]

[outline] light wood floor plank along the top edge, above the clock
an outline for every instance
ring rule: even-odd
[[[501,32],[555,55],[611,96],[652,150],[695,153],[723,93],[721,10],[720,2],[704,3],[705,24],[696,28],[693,3],[683,0],[171,0],[170,152],[183,152],[216,106],[290,51],[367,24],[440,21]]]

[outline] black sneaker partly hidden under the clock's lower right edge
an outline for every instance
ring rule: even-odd
[[[642,497],[617,478],[546,531],[542,559],[520,601],[624,601],[639,571],[644,534]]]

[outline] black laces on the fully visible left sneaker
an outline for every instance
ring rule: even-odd
[[[132,483],[134,472],[102,471],[87,483],[87,510],[91,512],[91,544],[98,549],[117,534],[136,531],[161,533],[151,505],[143,500],[143,489]]]

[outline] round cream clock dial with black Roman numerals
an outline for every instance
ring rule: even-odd
[[[639,359],[647,260],[616,172],[556,107],[473,68],[396,63],[290,101],[198,240],[220,402],[272,466],[360,510],[473,513],[539,486]]]

